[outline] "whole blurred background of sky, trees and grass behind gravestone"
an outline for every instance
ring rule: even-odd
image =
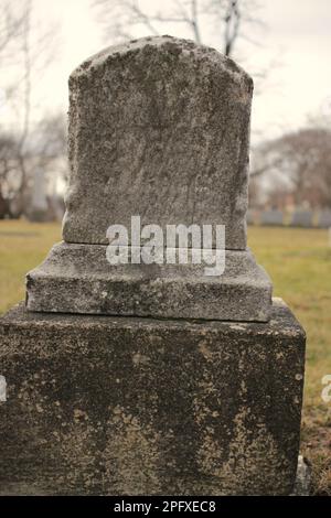
[[[331,495],[330,0],[0,0],[0,313],[61,239],[70,73],[151,34],[213,46],[254,78],[248,240],[308,333],[302,452]]]

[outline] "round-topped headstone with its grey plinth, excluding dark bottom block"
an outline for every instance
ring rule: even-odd
[[[246,248],[248,75],[212,48],[160,37],[87,60],[70,88],[65,242],[29,273],[28,309],[266,322],[271,283]],[[107,229],[130,229],[132,216],[164,235],[224,225],[223,276],[191,258],[169,266],[166,245],[164,263],[111,267]],[[217,255],[215,238],[210,247]]]

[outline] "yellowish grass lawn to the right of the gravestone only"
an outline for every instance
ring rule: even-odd
[[[312,463],[313,489],[331,495],[331,402],[321,398],[331,375],[331,244],[327,230],[249,227],[248,244],[270,274],[275,295],[307,332],[301,451]]]

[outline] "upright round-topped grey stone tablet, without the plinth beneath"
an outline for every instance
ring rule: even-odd
[[[213,48],[170,36],[113,46],[70,77],[63,238],[107,244],[110,224],[226,226],[246,248],[252,78]]]

